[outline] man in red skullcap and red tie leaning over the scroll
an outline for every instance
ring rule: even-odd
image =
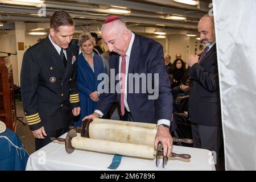
[[[123,120],[157,122],[155,148],[162,142],[164,155],[170,156],[172,96],[164,65],[163,47],[152,39],[131,32],[117,16],[106,19],[101,32],[104,42],[112,52],[109,61],[110,85],[113,80],[115,84],[110,87],[110,93],[104,93],[96,111],[85,118],[102,117],[108,113],[115,98],[118,98]],[[153,81],[142,78],[136,82],[132,73],[145,78],[153,76]],[[146,84],[143,85],[143,81]],[[152,88],[152,85],[155,86],[153,93],[147,90],[148,87]]]

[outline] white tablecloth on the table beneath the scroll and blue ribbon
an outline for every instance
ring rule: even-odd
[[[65,138],[64,134],[61,138]],[[97,144],[97,143],[96,143]],[[191,159],[170,158],[165,168],[155,166],[155,159],[142,159],[123,156],[121,164],[117,170],[125,171],[176,171],[176,170],[215,170],[213,157],[210,151],[174,146],[173,152],[176,154],[189,154]],[[30,155],[27,161],[26,170],[112,170],[108,169],[112,163],[112,154],[102,154],[99,152],[75,150],[72,154],[65,151],[64,142],[51,142],[40,150]]]

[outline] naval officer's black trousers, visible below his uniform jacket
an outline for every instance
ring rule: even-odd
[[[35,150],[37,151],[40,148],[46,146],[48,143],[51,143],[52,142],[51,137],[58,138],[64,133],[67,133],[68,131],[69,131],[69,126],[56,131],[46,131],[47,136],[45,136],[44,139],[38,139],[38,138],[35,139]]]

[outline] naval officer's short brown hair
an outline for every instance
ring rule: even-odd
[[[50,27],[58,31],[59,26],[75,26],[73,18],[65,11],[55,11],[50,20]]]

